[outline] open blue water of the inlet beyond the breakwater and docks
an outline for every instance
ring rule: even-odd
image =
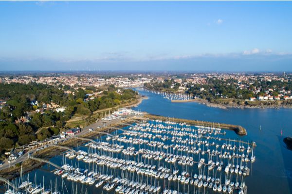
[[[160,95],[145,91],[139,93],[149,98],[134,110],[243,126],[248,135],[238,137],[245,141],[256,141],[257,145],[256,161],[251,175],[245,180],[248,194],[292,193],[292,151],[286,149],[283,143],[283,137],[292,136],[292,109],[224,110],[196,102],[171,103]]]

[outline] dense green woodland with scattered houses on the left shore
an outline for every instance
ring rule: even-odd
[[[70,90],[71,93],[66,94],[65,90]],[[121,94],[118,94],[116,88],[110,86],[102,96],[88,100],[95,90],[92,87],[74,90],[63,85],[0,83],[0,99],[6,101],[0,109],[0,152],[58,134],[74,114],[90,115],[96,110],[120,105],[123,101],[136,98],[137,95],[130,89],[121,89]],[[32,101],[38,101],[38,104],[31,105]],[[53,102],[65,107],[65,111],[56,112],[49,108],[43,113],[35,111],[43,109],[43,104]],[[29,117],[30,121],[17,123],[22,116]]]

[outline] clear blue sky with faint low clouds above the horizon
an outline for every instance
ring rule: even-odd
[[[0,1],[0,70],[292,71],[292,1]]]

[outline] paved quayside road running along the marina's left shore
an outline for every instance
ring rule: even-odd
[[[130,115],[128,117],[133,117],[134,115]],[[81,132],[79,134],[77,134],[76,136],[82,136],[82,135],[85,135],[87,133],[90,133],[91,131],[89,131],[89,129],[99,129],[99,128],[103,128],[103,127],[107,127],[107,126],[110,126],[111,124],[115,124],[115,123],[119,123],[121,121],[121,118],[117,118],[117,119],[113,119],[111,121],[103,121],[103,120],[99,120],[85,128],[83,128],[81,130]],[[105,123],[103,123],[105,122]],[[61,141],[64,141],[64,140],[70,140],[74,138],[74,136],[68,136],[68,137],[65,137],[65,138],[62,138],[62,139],[59,139],[57,141],[55,141],[54,143],[51,143],[51,144],[48,144],[48,145],[45,145],[45,146],[52,146],[53,144],[55,143],[59,143]],[[4,162],[1,166],[0,166],[0,170],[4,170],[6,168],[9,168],[10,166],[13,166],[19,162],[23,162],[25,161],[27,158],[28,158],[28,155],[29,154],[33,154],[34,152],[36,152],[37,149],[41,148],[41,147],[44,147],[44,146],[40,146],[40,147],[37,147],[36,149],[33,149],[33,150],[30,150],[28,152],[26,152],[25,154],[23,154],[21,157],[19,157],[17,160],[15,161],[12,161],[12,162]]]

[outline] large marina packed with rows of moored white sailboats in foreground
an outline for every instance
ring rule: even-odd
[[[256,160],[254,146],[221,139],[228,133],[234,132],[172,121],[132,123],[52,159],[60,168],[51,170],[49,184],[37,182],[37,172],[31,172],[31,178],[21,176],[15,185],[18,192],[28,194],[74,193],[73,189],[75,193],[247,193],[245,179]],[[56,185],[68,191],[59,191]]]

